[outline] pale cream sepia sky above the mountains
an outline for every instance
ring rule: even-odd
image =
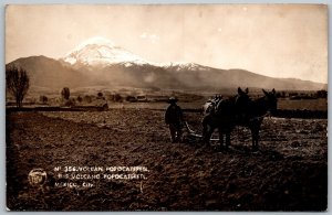
[[[193,62],[328,83],[322,4],[9,6],[6,63],[63,57],[95,36],[156,63]]]

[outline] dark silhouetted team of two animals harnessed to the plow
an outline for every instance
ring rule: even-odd
[[[277,95],[274,88],[271,92],[262,89],[263,96],[255,100],[248,96],[248,88],[243,92],[238,88],[238,95],[228,99],[220,99],[215,111],[209,111],[203,119],[203,141],[209,146],[210,137],[216,128],[219,131],[220,148],[228,149],[230,133],[236,126],[248,127],[252,137],[252,151],[257,151],[259,130],[262,120],[268,115],[277,111]],[[211,108],[212,109],[212,108]],[[226,146],[224,146],[224,135]]]

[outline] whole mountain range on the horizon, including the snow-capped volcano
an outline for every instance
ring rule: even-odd
[[[255,87],[277,90],[326,89],[326,84],[295,78],[273,78],[245,69],[220,69],[195,63],[154,63],[94,37],[80,44],[62,58],[30,56],[10,65],[28,71],[31,86],[61,89],[89,86],[218,90]]]

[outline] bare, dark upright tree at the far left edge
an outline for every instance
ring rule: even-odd
[[[22,107],[22,101],[30,87],[28,73],[23,68],[13,65],[6,66],[6,86],[15,98],[17,107]]]

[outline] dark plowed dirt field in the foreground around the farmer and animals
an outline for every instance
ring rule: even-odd
[[[7,206],[12,211],[325,211],[328,120],[267,118],[260,151],[237,128],[218,152],[170,143],[164,112],[9,112]],[[199,132],[198,114],[186,114]],[[146,179],[85,180],[61,187],[56,166],[145,166]],[[28,174],[41,168],[43,186]],[[92,174],[89,172],[89,174]],[[75,181],[80,182],[81,181]]]

